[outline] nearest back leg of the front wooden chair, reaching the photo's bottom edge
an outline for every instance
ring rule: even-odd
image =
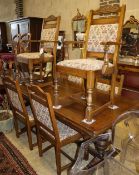
[[[61,152],[59,146],[55,146],[55,157],[56,157],[57,175],[61,175]]]

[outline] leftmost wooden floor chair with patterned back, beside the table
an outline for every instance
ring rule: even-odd
[[[19,137],[23,132],[27,132],[29,148],[33,149],[35,143],[32,141],[32,131],[35,128],[34,118],[30,106],[25,106],[25,100],[18,80],[13,81],[10,77],[3,77],[3,84],[6,89],[9,104],[14,116],[14,126],[16,136]],[[24,128],[20,128],[21,122]]]

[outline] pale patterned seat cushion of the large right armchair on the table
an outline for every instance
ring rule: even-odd
[[[92,59],[87,58],[87,59],[64,60],[59,62],[57,65],[81,69],[81,70],[96,71],[96,70],[101,70],[103,64],[104,64],[104,61],[102,60],[97,60],[95,58],[92,58]],[[110,64],[110,66],[112,66],[112,64]]]

